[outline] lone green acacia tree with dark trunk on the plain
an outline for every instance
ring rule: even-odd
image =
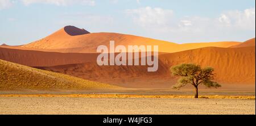
[[[221,87],[217,82],[214,82],[214,69],[211,67],[201,68],[196,64],[180,64],[172,66],[170,68],[172,75],[180,76],[174,89],[180,89],[181,87],[191,84],[195,87],[195,98],[198,98],[198,86],[200,84],[207,87]]]

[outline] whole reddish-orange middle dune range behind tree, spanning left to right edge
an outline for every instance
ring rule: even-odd
[[[169,68],[183,63],[212,66],[216,81],[221,84],[255,85],[255,47],[207,47],[160,54],[159,69],[154,73],[147,72],[148,66],[98,66],[96,58],[96,53],[0,48],[0,59],[3,60],[123,87],[170,88],[177,78],[170,76]]]

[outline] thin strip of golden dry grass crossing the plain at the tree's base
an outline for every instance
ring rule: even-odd
[[[191,95],[122,95],[122,94],[2,94],[0,97],[67,97],[67,98],[188,98]],[[251,99],[255,96],[208,95],[199,96],[201,99]]]

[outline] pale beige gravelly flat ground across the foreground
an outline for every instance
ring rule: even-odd
[[[0,97],[0,114],[254,114],[255,100]]]

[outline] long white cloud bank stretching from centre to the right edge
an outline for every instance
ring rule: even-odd
[[[209,31],[212,30],[254,30],[255,8],[243,11],[225,11],[216,18],[187,16],[176,18],[172,10],[144,7],[126,10],[134,22],[144,28],[158,28],[162,31]],[[189,28],[191,30],[189,30]],[[229,29],[230,28],[230,29]]]

